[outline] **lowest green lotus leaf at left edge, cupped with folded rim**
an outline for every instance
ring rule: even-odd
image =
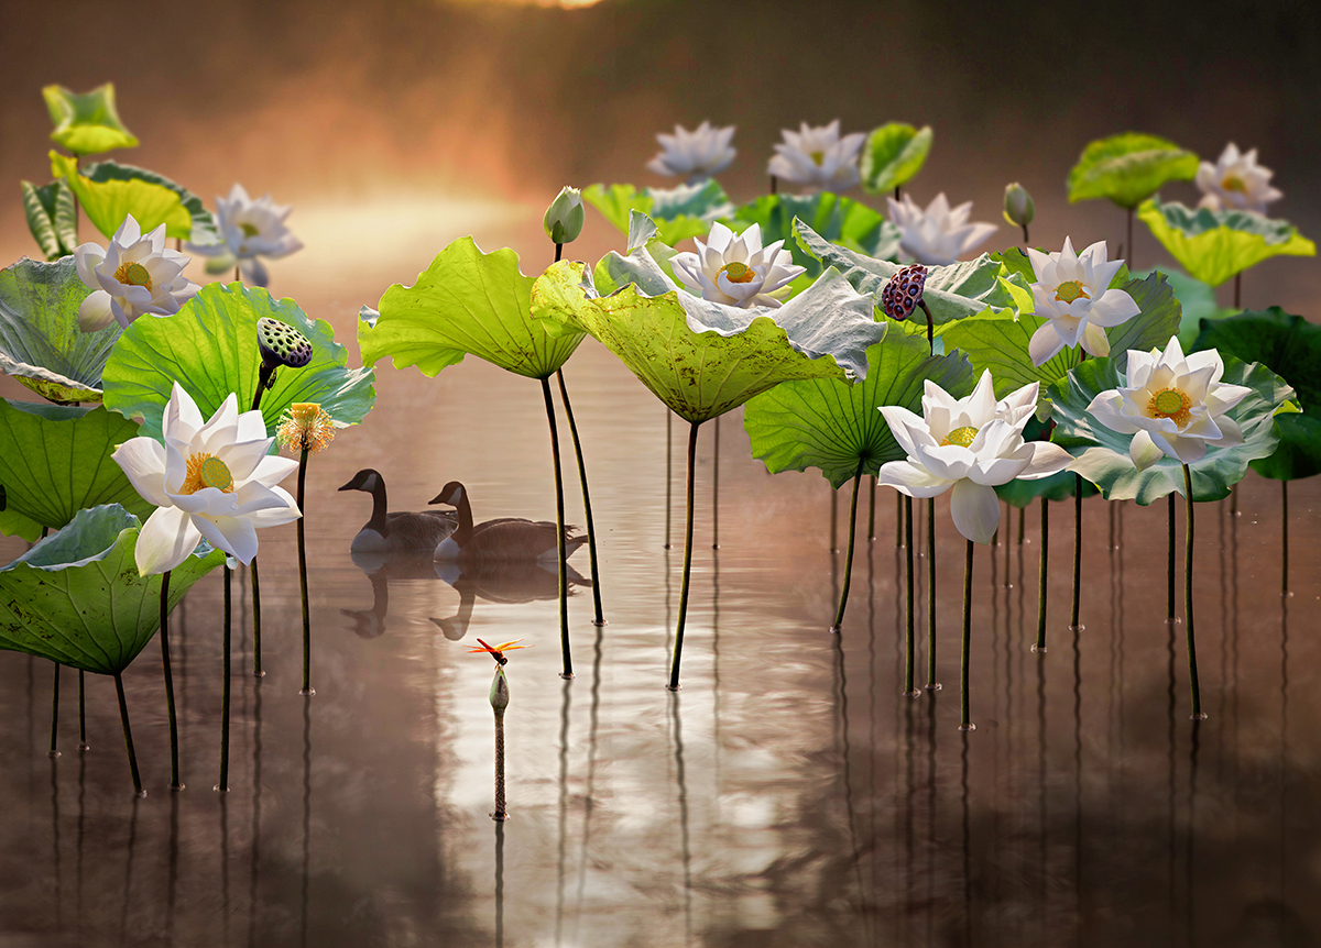
[[[137,574],[140,522],[118,504],[92,507],[0,568],[0,648],[96,675],[119,675],[160,628],[161,577]],[[170,570],[168,607],[225,562],[199,544]]]

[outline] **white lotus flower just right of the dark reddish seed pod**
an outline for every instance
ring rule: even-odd
[[[1098,240],[1082,254],[1074,254],[1073,243],[1065,238],[1065,248],[1058,254],[1042,254],[1028,248],[1028,259],[1037,281],[1032,284],[1037,316],[1049,322],[1032,334],[1028,354],[1032,364],[1040,366],[1065,346],[1082,345],[1096,356],[1110,355],[1107,326],[1118,326],[1141,310],[1122,289],[1107,289],[1123,260],[1106,257],[1106,242]]]

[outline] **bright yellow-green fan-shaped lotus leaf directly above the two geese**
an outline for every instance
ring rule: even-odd
[[[458,238],[412,287],[387,289],[379,313],[363,308],[362,360],[374,366],[388,358],[395,368],[417,366],[433,378],[472,354],[515,375],[550,378],[587,334],[555,335],[532,320],[534,283],[507,247],[482,254],[470,236]]]

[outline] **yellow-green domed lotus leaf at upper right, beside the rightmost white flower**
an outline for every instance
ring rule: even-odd
[[[1110,198],[1136,207],[1166,181],[1197,177],[1197,156],[1155,135],[1123,132],[1092,141],[1069,172],[1069,201]]]

